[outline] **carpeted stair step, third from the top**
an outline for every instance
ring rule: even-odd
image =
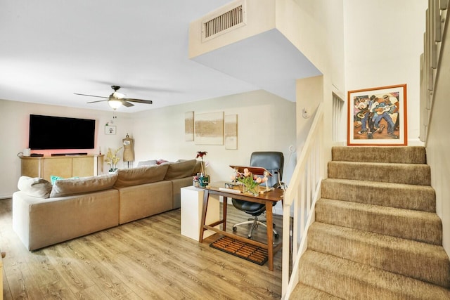
[[[334,200],[436,211],[435,190],[427,185],[327,178],[322,181],[321,195]]]

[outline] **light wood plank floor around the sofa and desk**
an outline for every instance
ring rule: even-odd
[[[248,218],[232,205],[228,214],[230,230]],[[11,219],[11,199],[0,200],[4,299],[281,298],[281,251],[272,272],[211,248],[218,236],[200,244],[180,234],[179,209],[35,252],[25,249]],[[274,219],[281,228],[281,217]],[[260,227],[255,239],[265,235]]]

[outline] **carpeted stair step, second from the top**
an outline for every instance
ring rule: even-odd
[[[427,164],[328,162],[328,178],[410,185],[430,185],[431,183],[430,167]]]

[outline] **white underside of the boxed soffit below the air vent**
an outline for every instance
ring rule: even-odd
[[[295,79],[321,74],[276,29],[218,48],[193,60],[293,102]]]

